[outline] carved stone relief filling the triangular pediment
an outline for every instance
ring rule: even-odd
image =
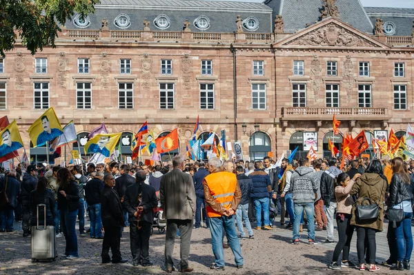
[[[375,47],[379,45],[368,41],[357,34],[338,26],[335,23],[329,23],[322,28],[304,34],[286,45],[322,45],[322,46],[344,46],[344,47]]]

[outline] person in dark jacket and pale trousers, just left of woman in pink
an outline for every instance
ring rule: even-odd
[[[335,223],[335,211],[337,207],[337,202],[335,198],[335,179],[342,173],[339,170],[337,165],[337,159],[332,158],[328,162],[329,168],[325,170],[324,174],[321,177],[321,195],[324,200],[324,205],[326,206],[326,219],[328,223],[326,224],[326,234],[328,235],[325,242],[326,244],[334,244],[333,236],[333,227]]]

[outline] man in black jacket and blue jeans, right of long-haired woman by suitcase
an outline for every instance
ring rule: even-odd
[[[90,238],[103,238],[101,218],[101,192],[103,172],[90,173],[91,180],[84,186],[90,218]]]

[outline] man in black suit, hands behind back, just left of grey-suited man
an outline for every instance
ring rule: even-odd
[[[147,185],[146,173],[138,171],[135,174],[136,183],[126,188],[124,206],[128,210],[130,221],[130,242],[132,265],[152,265],[150,261],[150,233],[154,212],[157,206],[155,188]],[[139,197],[140,196],[140,197]]]

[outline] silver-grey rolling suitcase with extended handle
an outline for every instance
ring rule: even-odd
[[[39,227],[39,207],[44,209],[44,223]],[[54,226],[46,226],[46,205],[37,205],[37,226],[31,227],[32,262],[39,260],[55,261],[56,258],[56,232]]]

